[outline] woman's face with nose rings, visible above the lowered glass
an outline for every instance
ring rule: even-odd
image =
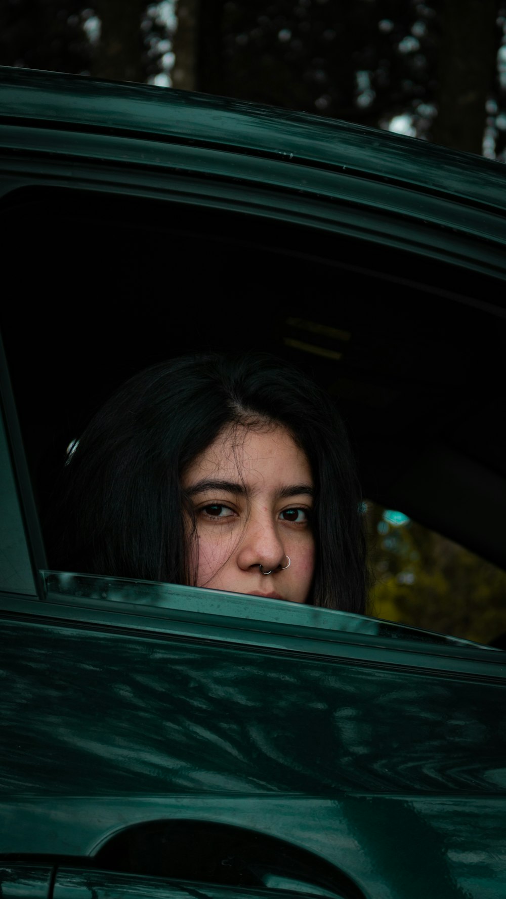
[[[226,428],[182,485],[197,522],[197,586],[306,601],[315,569],[313,476],[285,428]]]

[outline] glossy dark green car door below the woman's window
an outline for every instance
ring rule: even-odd
[[[501,652],[191,587],[36,583],[3,451],[5,895],[500,895]]]

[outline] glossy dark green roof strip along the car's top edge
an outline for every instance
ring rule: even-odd
[[[69,102],[69,94],[72,102]],[[1,112],[24,120],[137,131],[317,164],[506,210],[501,164],[351,122],[205,93],[0,67]]]

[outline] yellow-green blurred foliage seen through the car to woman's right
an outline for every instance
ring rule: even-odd
[[[415,628],[490,643],[506,632],[506,572],[368,503],[368,612]],[[404,518],[404,517],[403,517]]]

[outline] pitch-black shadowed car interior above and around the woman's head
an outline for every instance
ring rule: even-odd
[[[335,398],[364,496],[506,567],[500,280],[191,204],[62,187],[2,205],[1,327],[42,511],[122,381],[184,352],[254,349]]]

